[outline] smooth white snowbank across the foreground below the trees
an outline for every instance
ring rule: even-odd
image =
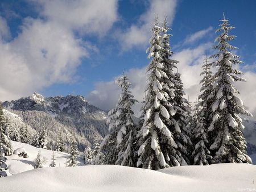
[[[1,191],[255,190],[256,166],[214,164],[159,171],[118,165],[40,168],[0,179]]]

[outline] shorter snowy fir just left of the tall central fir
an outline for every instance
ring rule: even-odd
[[[131,95],[129,90],[131,84],[125,74],[115,82],[122,91],[117,107],[109,111],[107,119],[109,134],[102,141],[100,151],[104,153],[104,164],[135,166],[136,128],[131,107],[137,100]]]

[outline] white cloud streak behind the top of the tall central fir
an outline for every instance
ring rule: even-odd
[[[163,22],[164,16],[167,15],[167,20],[171,26],[174,20],[176,0],[152,0],[150,8],[144,12],[137,24],[133,24],[125,32],[118,32],[118,37],[122,49],[126,51],[133,47],[144,47],[147,45],[150,38],[152,23],[154,22],[154,13],[158,14],[159,22]]]

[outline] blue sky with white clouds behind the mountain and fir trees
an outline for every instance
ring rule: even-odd
[[[189,101],[199,94],[201,65],[212,46],[219,20],[236,29],[232,45],[245,64],[247,82],[237,84],[245,106],[256,115],[256,1],[48,1],[0,2],[0,100],[37,91],[46,96],[82,94],[109,110],[117,102],[114,79],[125,73],[142,101],[146,48],[154,13],[172,28],[174,59]],[[139,114],[140,105],[135,106]]]

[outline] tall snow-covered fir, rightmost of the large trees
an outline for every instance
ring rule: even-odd
[[[229,44],[236,36],[229,35],[231,27],[225,16],[216,32],[221,34],[216,38],[218,44],[214,46],[218,52],[210,58],[217,59],[213,66],[217,67],[214,74],[216,81],[213,84],[213,92],[210,95],[214,98],[212,104],[212,123],[208,130],[210,133],[210,152],[214,157],[213,163],[226,162],[251,162],[246,155],[246,141],[242,130],[245,128],[239,114],[251,115],[243,107],[243,102],[236,95],[239,91],[234,87],[236,81],[246,81],[240,77],[243,74],[240,70],[234,69],[233,65],[241,64],[240,57],[230,51],[237,49]]]

